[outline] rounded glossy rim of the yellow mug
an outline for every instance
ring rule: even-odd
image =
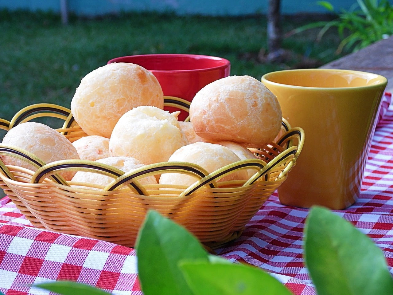
[[[371,84],[371,85],[364,85],[364,86],[351,86],[351,87],[310,87],[310,86],[297,86],[297,85],[290,85],[290,84],[284,84],[284,83],[278,83],[278,82],[274,82],[271,81],[270,79],[268,79],[267,77],[270,76],[271,74],[276,74],[276,73],[285,73],[285,72],[344,72],[344,73],[354,73],[354,74],[362,74],[362,75],[374,75],[375,78],[379,78],[380,81],[377,84]],[[387,85],[387,78],[379,75],[379,74],[375,74],[375,73],[371,73],[371,72],[364,72],[364,71],[358,71],[358,70],[346,70],[346,69],[323,69],[323,68],[305,68],[305,69],[291,69],[291,70],[278,70],[278,71],[274,71],[274,72],[269,72],[264,74],[261,77],[261,82],[263,83],[263,81],[266,81],[268,83],[271,83],[272,85],[283,85],[285,87],[289,87],[289,88],[294,88],[294,89],[307,89],[307,90],[333,90],[333,91],[342,91],[342,90],[354,90],[354,89],[362,89],[362,88],[379,88],[381,86],[386,87]]]

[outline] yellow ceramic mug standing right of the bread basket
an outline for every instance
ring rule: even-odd
[[[386,78],[352,70],[301,69],[271,72],[262,82],[277,96],[283,117],[305,132],[297,164],[278,189],[281,203],[331,209],[353,204]]]

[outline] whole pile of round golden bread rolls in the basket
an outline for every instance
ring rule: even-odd
[[[74,142],[44,124],[26,122],[10,129],[4,144],[17,146],[44,163],[61,159],[97,161],[129,172],[144,165],[182,161],[208,173],[243,159],[248,147],[263,147],[281,129],[280,105],[272,92],[250,76],[229,76],[202,88],[191,101],[190,122],[179,112],[163,111],[163,92],[156,77],[142,66],[110,63],[81,81],[70,109],[88,135]],[[9,156],[6,165],[36,167]],[[220,181],[247,180],[255,171],[240,170]],[[67,181],[106,186],[113,179],[92,172],[66,172]],[[163,173],[141,184],[189,186],[195,177]]]

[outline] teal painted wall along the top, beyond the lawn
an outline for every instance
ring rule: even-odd
[[[68,0],[68,10],[81,16],[119,11],[174,11],[178,15],[250,15],[266,13],[268,0]],[[326,12],[317,0],[281,0],[281,13]],[[336,11],[349,9],[356,0],[331,0]],[[0,8],[60,11],[60,0],[0,0]]]

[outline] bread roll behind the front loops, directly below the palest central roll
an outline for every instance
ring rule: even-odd
[[[96,160],[95,162],[113,166],[125,173],[145,166],[137,159],[130,158],[130,157],[108,157],[108,158]],[[85,172],[85,171],[78,171],[75,174],[75,176],[72,178],[72,181],[97,184],[97,185],[102,185],[104,187],[110,184],[113,180],[114,180],[113,177],[107,175],[102,175],[100,173],[94,173],[94,172]],[[138,182],[140,184],[157,184],[156,178],[154,176],[147,176],[141,178],[138,180]],[[89,188],[98,190],[98,188],[93,188],[93,187],[89,187]]]

